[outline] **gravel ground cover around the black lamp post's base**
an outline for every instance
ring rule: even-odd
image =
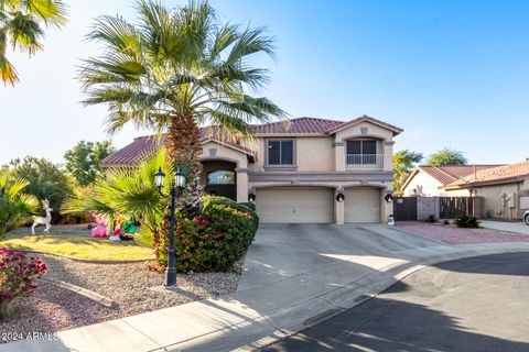
[[[102,322],[145,311],[183,305],[234,293],[238,273],[194,273],[177,275],[177,292],[154,292],[164,276],[144,263],[93,264],[42,255],[48,272],[45,277],[63,280],[107,296],[117,307],[107,308],[69,290],[39,282],[29,298],[19,298],[20,312],[0,322],[0,343],[28,332],[55,332]],[[11,339],[8,339],[11,338]]]

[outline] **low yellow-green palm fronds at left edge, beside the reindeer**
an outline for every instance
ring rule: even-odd
[[[36,197],[22,193],[28,185],[25,179],[12,177],[8,169],[0,170],[0,239],[28,222],[37,209]]]

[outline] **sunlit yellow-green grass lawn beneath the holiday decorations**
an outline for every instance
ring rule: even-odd
[[[82,260],[127,261],[154,257],[152,249],[140,246],[133,241],[115,243],[88,234],[7,233],[0,241],[0,248],[56,253]]]

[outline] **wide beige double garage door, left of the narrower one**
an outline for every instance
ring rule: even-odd
[[[256,209],[262,222],[333,222],[333,190],[317,187],[257,189]]]

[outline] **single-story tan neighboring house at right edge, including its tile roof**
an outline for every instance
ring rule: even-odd
[[[477,170],[444,187],[484,198],[484,216],[522,219],[529,209],[529,161]]]

